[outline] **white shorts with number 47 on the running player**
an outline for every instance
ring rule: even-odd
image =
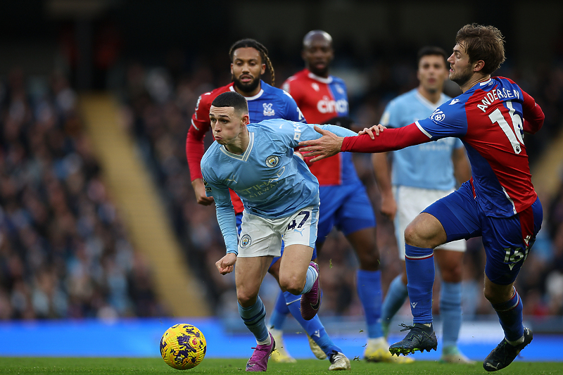
[[[315,247],[319,208],[307,207],[289,217],[265,219],[244,210],[242,214],[239,257],[281,255],[281,241],[285,246]]]

